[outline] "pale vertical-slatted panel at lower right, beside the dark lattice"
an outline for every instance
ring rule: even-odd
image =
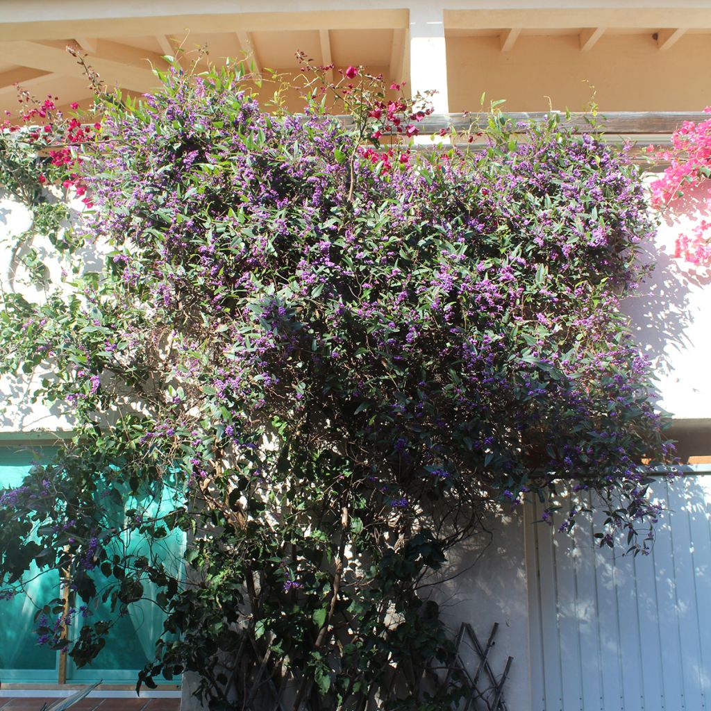
[[[658,479],[653,496],[651,555],[598,549],[582,519],[573,541],[532,525],[535,709],[711,709],[711,476]]]

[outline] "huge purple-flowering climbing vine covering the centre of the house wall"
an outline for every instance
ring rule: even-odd
[[[570,530],[592,492],[601,544],[651,535],[641,462],[668,445],[619,312],[655,227],[637,169],[555,116],[412,152],[388,136],[427,108],[360,68],[325,87],[345,125],[311,78],[303,116],[264,112],[239,67],[162,78],[77,144],[105,267],[70,252],[43,304],[4,296],[3,370],[48,368],[35,395],[77,426],[3,495],[5,589],[68,570],[81,634],[41,631],[81,664],[109,629],[92,601],[124,613],[157,585],[139,683],[195,671],[213,708],[272,683],[294,709],[424,708],[452,647],[422,580],[483,518],[535,496]],[[170,510],[125,503],[156,488]],[[122,554],[123,529],[185,532],[186,573]]]

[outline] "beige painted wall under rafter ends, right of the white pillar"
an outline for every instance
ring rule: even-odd
[[[592,50],[577,34],[518,38],[448,36],[449,110],[479,109],[479,98],[506,99],[509,111],[583,110],[592,92],[602,111],[700,111],[711,104],[711,40],[685,35],[659,50],[652,31],[602,36]]]

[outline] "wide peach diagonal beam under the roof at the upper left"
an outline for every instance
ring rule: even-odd
[[[114,44],[114,43],[112,43]],[[70,77],[82,77],[82,68],[67,50],[49,47],[38,42],[0,43],[0,56],[7,62],[45,72]],[[115,59],[92,57],[90,64],[109,85],[145,92],[159,85],[147,63],[144,67],[125,64]]]

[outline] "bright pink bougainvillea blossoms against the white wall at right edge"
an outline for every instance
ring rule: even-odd
[[[711,113],[711,107],[704,109]],[[652,205],[662,209],[683,195],[683,191],[699,186],[711,177],[711,119],[697,124],[683,122],[671,137],[668,148],[655,151],[653,159],[668,162],[662,175],[651,184]],[[711,223],[699,220],[691,233],[677,237],[675,257],[696,264],[711,264]]]

